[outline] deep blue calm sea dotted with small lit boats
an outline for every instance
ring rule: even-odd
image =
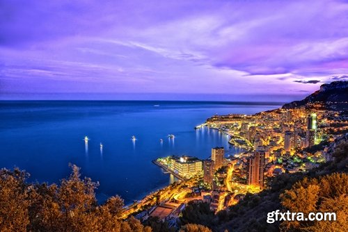
[[[58,183],[69,176],[72,163],[81,167],[81,176],[100,183],[100,201],[118,194],[129,204],[175,181],[152,163],[158,157],[208,158],[216,146],[225,147],[226,156],[235,153],[226,135],[194,126],[216,114],[278,107],[203,101],[0,101],[0,167],[25,169],[29,181]]]

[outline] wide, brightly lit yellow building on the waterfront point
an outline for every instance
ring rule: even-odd
[[[184,178],[191,178],[195,175],[202,174],[203,163],[202,160],[198,160],[196,157],[191,156],[172,156],[171,157],[171,167],[175,174],[182,176]]]

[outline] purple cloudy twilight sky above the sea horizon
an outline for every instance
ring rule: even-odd
[[[0,0],[0,99],[288,101],[348,80],[348,1]]]

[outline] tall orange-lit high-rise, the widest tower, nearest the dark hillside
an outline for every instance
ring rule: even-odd
[[[254,156],[248,159],[248,185],[256,185],[263,188],[264,156],[264,151],[255,151]]]

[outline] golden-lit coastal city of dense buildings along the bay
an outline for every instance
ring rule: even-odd
[[[315,102],[255,115],[214,115],[194,129],[218,130],[239,152],[226,156],[223,147],[212,147],[206,160],[187,155],[153,160],[179,181],[127,206],[122,216],[158,217],[175,226],[190,201],[205,202],[217,213],[268,188],[274,176],[318,167],[331,160],[330,142],[348,131],[345,112],[337,103]]]

